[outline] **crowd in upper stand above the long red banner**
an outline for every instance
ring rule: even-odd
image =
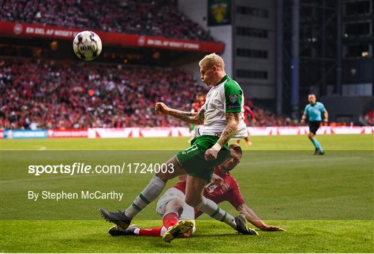
[[[0,20],[213,42],[175,0],[3,0]]]

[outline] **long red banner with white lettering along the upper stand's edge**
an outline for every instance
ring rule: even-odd
[[[41,24],[26,24],[0,21],[0,36],[12,37],[41,37],[47,39],[67,39],[73,41],[77,33],[84,29],[43,26]],[[109,33],[93,30],[100,36],[103,45],[119,45],[132,47],[164,48],[175,51],[198,51],[204,53],[222,53],[224,44],[217,42],[197,42],[184,39],[165,37],[129,35],[124,33]]]

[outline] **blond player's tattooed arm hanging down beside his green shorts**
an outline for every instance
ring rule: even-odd
[[[220,149],[229,142],[229,140],[235,135],[238,131],[240,113],[227,113],[226,121],[227,125],[222,132],[220,139],[217,140],[217,143],[213,145],[210,149],[207,149],[205,152],[206,161],[215,160],[218,156]]]

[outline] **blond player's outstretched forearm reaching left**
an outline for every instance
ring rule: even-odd
[[[195,125],[202,125],[204,123],[204,109],[201,109],[198,113],[180,111],[177,109],[170,109],[170,107],[166,106],[163,102],[157,102],[154,109],[160,111],[162,114],[173,116],[186,123],[193,123]]]

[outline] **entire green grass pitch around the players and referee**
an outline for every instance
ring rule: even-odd
[[[268,224],[282,226],[286,232],[238,235],[204,215],[197,220],[193,237],[176,239],[172,244],[157,237],[110,237],[110,225],[98,217],[98,207],[116,210],[129,205],[152,174],[31,176],[26,166],[59,160],[162,162],[173,152],[145,150],[185,149],[186,138],[0,140],[0,252],[373,253],[373,136],[326,135],[318,139],[326,149],[325,156],[312,156],[312,144],[305,136],[251,137],[253,146],[244,147],[248,152],[232,172],[248,206]],[[25,152],[38,149],[43,151]],[[142,151],[107,151],[134,149]],[[27,199],[28,190],[82,189],[124,192],[124,200]],[[134,223],[161,225],[155,205],[145,208]],[[220,206],[237,213],[229,203]]]

